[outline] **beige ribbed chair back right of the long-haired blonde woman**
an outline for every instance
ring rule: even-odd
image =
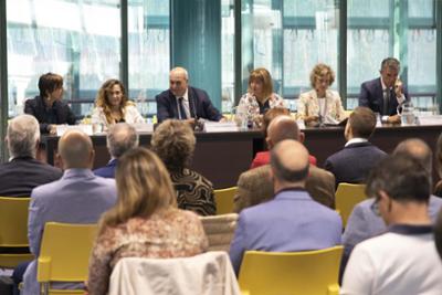
[[[229,252],[230,242],[236,229],[238,214],[200,217],[200,220],[209,239],[209,251]]]

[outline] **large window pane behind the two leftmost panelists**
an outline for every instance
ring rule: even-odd
[[[64,77],[78,117],[90,114],[101,84],[119,76],[119,0],[7,0],[9,115],[39,94],[46,72]]]

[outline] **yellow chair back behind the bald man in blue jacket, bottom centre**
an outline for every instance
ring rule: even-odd
[[[250,295],[337,295],[343,246],[306,252],[246,251],[239,283]]]

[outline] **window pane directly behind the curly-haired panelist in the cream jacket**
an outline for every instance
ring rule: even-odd
[[[334,0],[284,0],[284,97],[294,98],[312,88],[309,74],[317,63],[337,71],[338,6]],[[336,89],[335,83],[330,86]],[[294,108],[296,104],[292,103]],[[292,109],[294,110],[294,109]]]

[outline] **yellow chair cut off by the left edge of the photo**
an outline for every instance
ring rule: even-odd
[[[0,247],[28,247],[28,211],[30,198],[0,197]],[[32,261],[33,255],[0,253],[0,267],[14,268],[19,263]]]

